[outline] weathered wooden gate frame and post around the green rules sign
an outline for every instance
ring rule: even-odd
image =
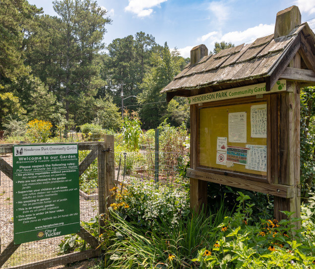
[[[54,144],[67,144],[67,143],[54,143]],[[3,153],[12,153],[12,148],[15,144],[3,144],[0,148]],[[26,145],[26,144],[23,144]],[[32,145],[42,145],[41,143],[32,143]],[[78,150],[91,150],[89,154],[79,164],[79,176],[98,158],[98,203],[99,215],[105,214],[107,210],[106,200],[108,204],[112,201],[107,199],[109,197],[109,190],[115,186],[115,163],[114,163],[114,135],[106,135],[104,142],[78,142]],[[3,158],[0,157],[0,171],[3,172],[8,178],[13,180],[13,168]],[[80,196],[82,192],[80,192]],[[104,226],[102,218],[99,218],[100,226]],[[102,232],[100,228],[99,232]],[[10,268],[14,269],[45,269],[53,266],[73,263],[93,257],[100,254],[98,238],[91,235],[86,229],[80,226],[80,232],[77,233],[83,240],[85,240],[92,249],[66,254],[60,257],[46,259],[34,263],[18,265]],[[0,267],[11,257],[11,255],[18,249],[21,244],[14,244],[12,240],[6,248],[0,253]]]

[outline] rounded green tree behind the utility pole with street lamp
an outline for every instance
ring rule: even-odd
[[[120,83],[124,84],[124,96],[138,95],[142,91],[140,84],[144,75],[151,67],[150,58],[155,46],[154,37],[144,32],[113,40],[107,47],[108,53],[103,56],[101,73],[107,86],[99,90],[98,96],[111,94],[114,103],[120,106]],[[135,103],[136,99],[128,98],[125,106]]]

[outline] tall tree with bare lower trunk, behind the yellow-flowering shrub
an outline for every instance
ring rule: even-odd
[[[64,103],[69,121],[81,93],[94,96],[104,85],[97,61],[104,49],[105,25],[111,20],[93,0],[56,0],[53,4],[58,17],[44,16],[37,33],[47,46],[34,47],[30,62],[40,63],[36,74]]]

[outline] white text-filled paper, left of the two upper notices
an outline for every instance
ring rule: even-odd
[[[229,113],[229,142],[247,142],[246,116],[246,112]]]

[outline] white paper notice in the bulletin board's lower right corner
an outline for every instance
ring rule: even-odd
[[[267,146],[246,145],[247,153],[246,169],[267,172]]]

